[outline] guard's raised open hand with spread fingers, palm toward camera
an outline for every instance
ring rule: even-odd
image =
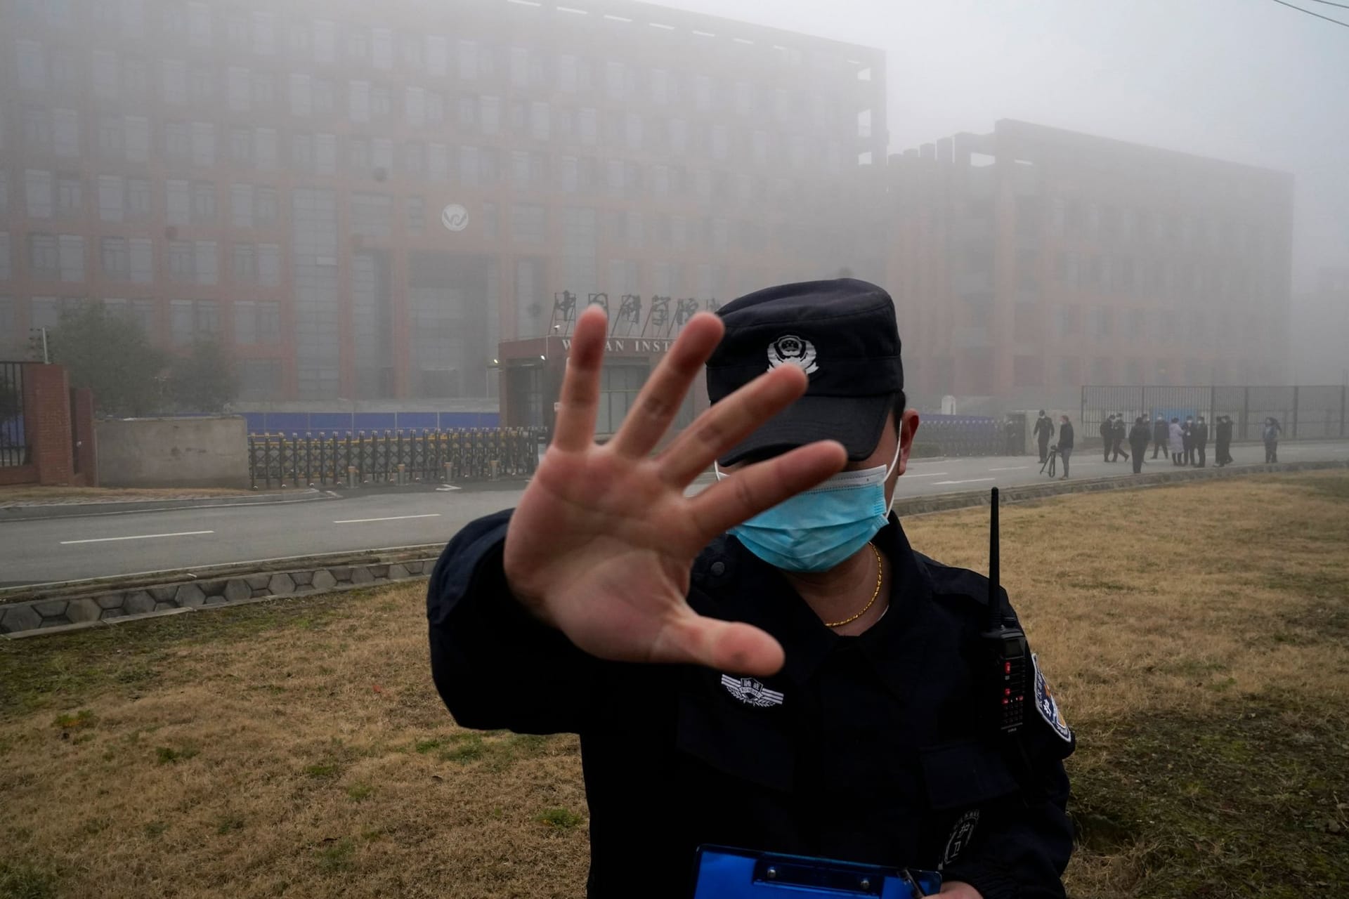
[[[759,376],[652,457],[722,338],[722,321],[701,313],[600,446],[595,416],[606,330],[595,306],[576,322],[553,443],[506,532],[506,581],[536,616],[599,658],[772,674],[782,666],[777,640],[695,613],[684,598],[689,571],[726,528],[840,470],[846,452],[832,441],[811,443],[685,497],[715,458],[805,392],[805,373],[782,365]]]

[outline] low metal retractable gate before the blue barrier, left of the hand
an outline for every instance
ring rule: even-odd
[[[540,427],[345,434],[251,434],[252,487],[453,484],[523,477],[538,466]]]

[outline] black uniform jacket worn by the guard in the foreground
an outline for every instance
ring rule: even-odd
[[[987,899],[1064,895],[1060,760],[1074,741],[1033,695],[1024,753],[989,736],[979,698],[990,687],[977,691],[983,577],[919,555],[892,518],[876,539],[893,563],[890,608],[840,638],[777,569],[722,536],[699,555],[688,601],[782,643],[782,671],[757,681],[576,648],[511,597],[509,519],[479,519],[445,547],[426,597],[432,673],[463,726],[580,735],[592,899],[692,895],[704,842],[946,863],[947,880]]]

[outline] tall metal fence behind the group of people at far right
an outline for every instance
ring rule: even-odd
[[[1112,412],[1125,422],[1145,415],[1151,425],[1160,415],[1184,421],[1203,415],[1211,425],[1218,415],[1230,415],[1233,439],[1260,439],[1267,418],[1283,426],[1286,439],[1326,439],[1349,437],[1345,402],[1349,387],[1106,387],[1082,388],[1079,431],[1094,437],[1101,419]]]

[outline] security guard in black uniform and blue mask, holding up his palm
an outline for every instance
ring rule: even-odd
[[[695,317],[596,445],[604,334],[585,310],[519,507],[460,531],[428,590],[461,725],[580,735],[588,895],[683,899],[720,844],[1063,896],[1072,732],[1037,666],[1027,726],[996,732],[987,581],[889,514],[919,426],[889,295],[811,282]],[[712,407],[653,456],[704,361]]]

